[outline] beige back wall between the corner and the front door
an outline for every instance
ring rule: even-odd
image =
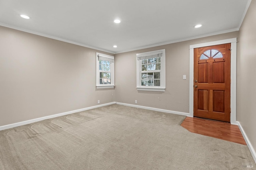
[[[189,113],[189,46],[238,37],[238,31],[115,55],[115,102]],[[165,92],[137,91],[136,53],[166,50]],[[186,74],[186,80],[183,75]]]

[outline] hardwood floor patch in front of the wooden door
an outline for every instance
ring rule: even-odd
[[[198,117],[186,117],[181,123],[181,126],[192,133],[198,133],[246,145],[239,127],[227,122],[202,119]]]

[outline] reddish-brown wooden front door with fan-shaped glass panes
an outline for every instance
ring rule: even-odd
[[[230,122],[230,43],[194,49],[194,116]]]

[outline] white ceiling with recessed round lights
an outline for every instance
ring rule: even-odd
[[[0,0],[0,25],[120,53],[238,31],[250,1]]]

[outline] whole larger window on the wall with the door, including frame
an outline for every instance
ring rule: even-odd
[[[165,90],[165,49],[137,54],[137,90]]]

